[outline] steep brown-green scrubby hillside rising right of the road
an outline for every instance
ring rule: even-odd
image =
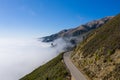
[[[90,33],[71,59],[91,80],[120,80],[120,14]]]

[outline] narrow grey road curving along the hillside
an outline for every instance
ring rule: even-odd
[[[66,52],[63,55],[64,62],[67,68],[70,70],[72,77],[75,80],[87,80],[85,76],[75,67],[75,65],[70,60],[71,52]]]

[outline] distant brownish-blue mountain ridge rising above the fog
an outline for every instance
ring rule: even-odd
[[[102,19],[99,19],[99,20],[91,21],[89,23],[86,23],[84,25],[78,26],[78,27],[73,28],[73,29],[65,29],[65,30],[62,30],[62,31],[60,31],[56,34],[43,37],[42,41],[43,42],[51,42],[51,41],[54,41],[58,38],[69,38],[69,39],[71,39],[73,37],[79,38],[84,33],[87,33],[88,31],[91,31],[93,29],[96,29],[96,28],[102,26],[103,24],[105,24],[107,21],[109,21],[112,18],[113,18],[112,16],[111,17],[105,17],[105,18],[102,18]],[[77,40],[79,40],[79,39],[77,39]]]

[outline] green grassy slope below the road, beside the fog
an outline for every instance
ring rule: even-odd
[[[20,80],[69,80],[70,74],[63,63],[62,55],[63,53]]]

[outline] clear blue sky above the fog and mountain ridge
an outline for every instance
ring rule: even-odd
[[[0,0],[0,37],[41,37],[120,12],[120,0]]]

